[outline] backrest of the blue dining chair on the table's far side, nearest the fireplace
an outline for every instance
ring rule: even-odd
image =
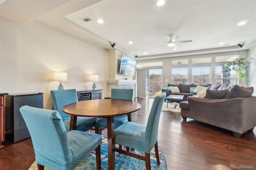
[[[111,89],[111,99],[133,101],[133,89]]]

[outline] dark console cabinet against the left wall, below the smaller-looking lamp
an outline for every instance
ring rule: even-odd
[[[78,101],[102,99],[102,90],[103,89],[78,90],[76,91],[77,99]]]

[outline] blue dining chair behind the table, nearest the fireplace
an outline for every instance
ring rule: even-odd
[[[133,89],[111,89],[111,99],[120,99],[120,100],[133,100]],[[129,119],[128,119],[129,118]],[[120,115],[114,117],[114,128],[119,127],[123,123],[126,123],[130,120],[128,115]],[[99,118],[96,120],[96,127],[107,128],[107,119]]]

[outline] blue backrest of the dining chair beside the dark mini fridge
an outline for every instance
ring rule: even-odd
[[[55,111],[60,113],[62,120],[70,119],[70,115],[63,112],[63,107],[78,102],[76,89],[51,90],[52,105]]]

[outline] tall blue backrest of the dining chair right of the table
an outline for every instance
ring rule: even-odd
[[[158,137],[158,125],[160,120],[160,115],[162,111],[162,106],[164,104],[164,99],[166,97],[166,93],[163,92],[162,95],[156,96],[154,98],[152,107],[150,109],[150,114],[148,116],[148,123],[146,126],[145,138],[144,138],[144,147],[150,152],[150,150],[154,147]]]

